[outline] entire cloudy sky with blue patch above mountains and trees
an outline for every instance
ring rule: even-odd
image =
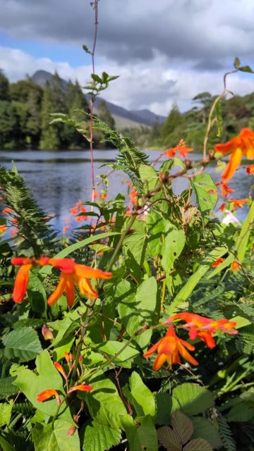
[[[90,80],[95,17],[90,0],[0,0],[0,68],[15,82],[43,69]],[[254,68],[253,0],[99,0],[95,73],[120,75],[103,97],[167,116],[200,92],[221,94],[234,58]],[[234,94],[254,74],[229,75]]]

